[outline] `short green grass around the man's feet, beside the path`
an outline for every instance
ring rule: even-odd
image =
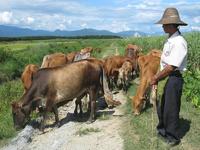
[[[136,85],[132,85],[128,91],[135,94]],[[146,108],[141,115],[132,114],[131,100],[127,99],[125,107],[127,122],[123,124],[123,138],[125,150],[165,150],[169,145],[157,137],[157,114],[153,107]],[[200,110],[193,107],[190,102],[182,98],[180,112],[180,132],[183,135],[182,142],[172,149],[198,149],[200,141]]]

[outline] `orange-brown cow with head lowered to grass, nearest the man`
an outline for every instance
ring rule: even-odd
[[[160,53],[157,51],[157,53]],[[145,104],[145,94],[148,91],[151,78],[157,73],[160,66],[160,57],[151,51],[147,55],[138,58],[140,69],[140,85],[137,88],[136,95],[132,98],[132,106],[135,115],[139,115]]]

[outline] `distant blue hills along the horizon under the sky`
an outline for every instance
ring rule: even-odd
[[[45,30],[32,30],[28,28],[0,25],[0,37],[23,37],[23,36],[73,37],[73,36],[86,36],[86,35],[113,35],[121,37],[130,37],[130,36],[139,37],[139,36],[144,36],[146,34],[138,31],[123,31],[114,33],[107,30],[96,30],[96,29],[81,29],[75,31],[64,31],[64,30],[45,31]]]

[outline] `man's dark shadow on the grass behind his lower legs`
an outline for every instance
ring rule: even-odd
[[[191,121],[180,118],[179,119],[179,137],[182,139],[186,133],[190,130]]]

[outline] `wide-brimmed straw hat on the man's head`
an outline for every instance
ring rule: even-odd
[[[176,8],[165,9],[162,18],[158,22],[156,22],[156,24],[177,24],[187,26],[187,23],[183,22],[180,19],[178,10]]]

